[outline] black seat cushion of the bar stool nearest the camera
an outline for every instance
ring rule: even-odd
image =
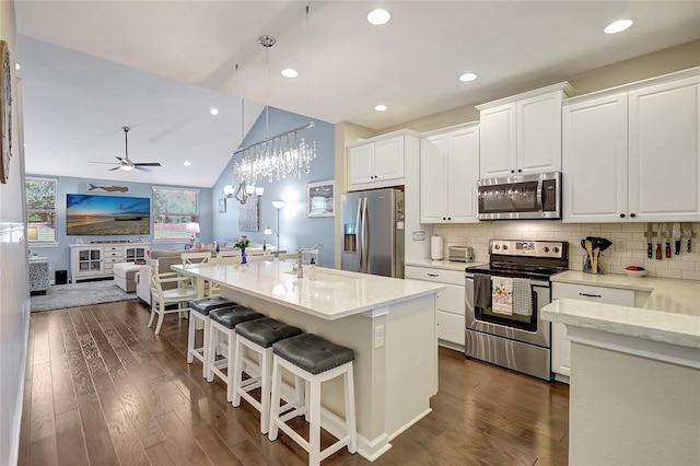
[[[354,352],[314,334],[302,334],[272,345],[272,352],[312,374],[354,360]]]

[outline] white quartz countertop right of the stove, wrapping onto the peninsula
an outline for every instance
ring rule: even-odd
[[[651,293],[642,307],[561,299],[542,307],[547,321],[700,349],[700,282],[565,271],[553,282]],[[699,354],[700,358],[700,354]]]

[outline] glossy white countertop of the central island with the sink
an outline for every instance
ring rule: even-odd
[[[445,287],[345,270],[316,268],[316,280],[298,279],[292,263],[267,260],[245,265],[172,266],[180,273],[334,321],[436,293]]]

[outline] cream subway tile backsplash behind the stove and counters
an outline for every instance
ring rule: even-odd
[[[691,225],[696,232],[700,226],[699,223]],[[654,232],[656,232],[656,226],[657,224],[654,223]],[[676,256],[672,251],[672,257],[667,259],[665,245],[663,245],[664,256],[661,260],[656,260],[646,257],[645,232],[645,223],[562,223],[549,220],[433,225],[433,234],[444,237],[445,257],[447,257],[447,246],[463,245],[474,247],[476,261],[488,261],[489,240],[491,238],[560,240],[569,242],[569,268],[581,270],[585,254],[581,247],[581,240],[586,236],[597,236],[614,242],[612,246],[600,253],[600,260],[610,273],[622,273],[625,267],[635,265],[649,270],[648,276],[650,277],[700,280],[699,237],[692,238],[692,253],[686,252],[688,240],[684,237],[681,238],[680,255]],[[665,238],[663,241],[665,242]],[[670,240],[672,249],[674,241]]]

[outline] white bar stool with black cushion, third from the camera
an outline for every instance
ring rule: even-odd
[[[236,334],[235,327],[244,322],[262,318],[265,315],[246,306],[222,307],[209,313],[209,340],[207,342],[207,382],[213,382],[219,375],[226,384],[226,401],[233,398],[233,381],[231,380],[235,361]],[[226,357],[217,361],[217,342],[219,333],[226,336]],[[231,368],[231,370],[229,370]],[[224,373],[224,369],[226,372]]]

